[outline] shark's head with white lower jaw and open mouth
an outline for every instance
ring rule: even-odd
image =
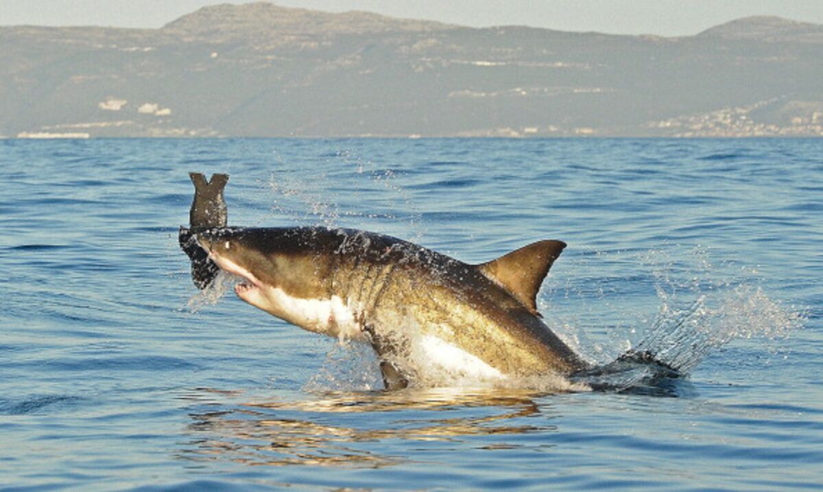
[[[198,232],[197,240],[218,267],[243,277],[235,286],[240,299],[307,329],[322,321],[300,309],[331,297],[322,244],[309,231],[221,228]]]

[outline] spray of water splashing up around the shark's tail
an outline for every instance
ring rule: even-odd
[[[706,248],[683,251],[668,245],[587,255],[601,262],[599,270],[581,262],[573,270],[584,284],[567,281],[561,291],[579,313],[554,314],[550,323],[595,364],[574,379],[593,388],[656,392],[666,384],[663,379],[690,374],[731,341],[773,340],[802,327],[805,314],[767,295],[755,268],[714,263],[709,257]],[[611,269],[631,277],[614,275]],[[624,299],[630,310],[618,307],[615,299]],[[544,301],[542,307],[546,305]],[[649,316],[644,305],[655,305],[656,313]],[[580,320],[609,326],[609,341],[597,342]]]

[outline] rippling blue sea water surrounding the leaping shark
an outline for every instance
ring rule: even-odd
[[[552,329],[605,362],[693,306],[696,366],[666,396],[379,391],[363,347],[192,285],[190,170],[230,174],[230,225],[562,239]],[[0,485],[823,483],[823,140],[9,140],[0,183]]]

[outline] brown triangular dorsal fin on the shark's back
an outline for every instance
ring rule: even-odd
[[[514,295],[533,314],[537,312],[537,290],[546,273],[565,248],[563,241],[548,239],[523,246],[491,262],[477,265],[480,272]]]

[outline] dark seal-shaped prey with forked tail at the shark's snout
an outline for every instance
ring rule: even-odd
[[[226,227],[229,219],[226,198],[223,189],[229,182],[228,174],[212,174],[212,180],[206,181],[202,173],[188,173],[194,183],[192,208],[188,213],[189,227],[180,227],[180,248],[192,261],[192,281],[198,289],[205,289],[214,281],[220,268],[208,258],[194,234],[200,230]]]

